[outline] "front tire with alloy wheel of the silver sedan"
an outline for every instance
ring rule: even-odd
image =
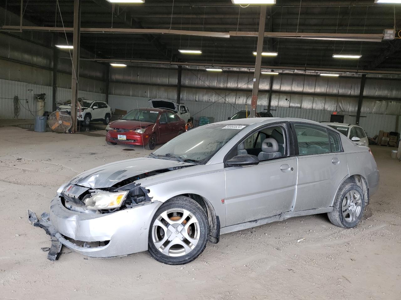
[[[208,239],[209,222],[205,210],[191,198],[176,196],[162,204],[154,214],[149,228],[148,251],[164,264],[187,264],[205,250]]]

